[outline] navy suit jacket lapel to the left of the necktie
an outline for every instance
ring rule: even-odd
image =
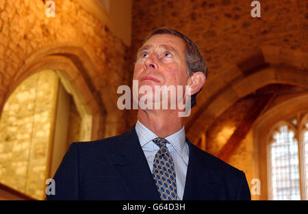
[[[135,125],[114,142],[114,151],[107,156],[131,200],[160,200]]]

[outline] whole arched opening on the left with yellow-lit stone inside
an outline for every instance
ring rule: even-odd
[[[44,199],[71,142],[90,140],[91,116],[57,70],[24,79],[10,94],[0,120],[0,183]]]

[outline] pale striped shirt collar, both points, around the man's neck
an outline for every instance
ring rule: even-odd
[[[139,138],[140,145],[142,147],[148,144],[149,142],[152,142],[152,139],[158,137],[157,135],[155,135],[155,133],[153,133],[153,131],[144,126],[144,124],[142,124],[139,120],[137,120],[136,122],[135,129]],[[180,155],[183,155],[183,150],[186,144],[184,126],[176,133],[173,133],[172,135],[165,137],[165,139],[167,139],[168,142],[170,142],[172,147],[175,148],[175,150],[177,150],[177,152]]]

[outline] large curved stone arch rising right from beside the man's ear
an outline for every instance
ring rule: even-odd
[[[251,55],[242,62],[253,60],[255,56]],[[210,95],[207,95],[207,99],[198,109],[194,109],[194,115],[186,124],[188,137],[194,144],[221,113],[240,98],[259,88],[274,83],[308,88],[307,53],[266,46],[257,53],[257,57],[262,58],[259,60],[261,64],[254,64],[254,67],[250,68],[253,72],[243,72],[238,66],[239,63],[231,67],[228,72],[223,72],[224,75],[230,73],[233,79],[229,77],[229,80],[222,81],[221,77],[217,77],[207,86],[211,90],[211,86],[220,85],[209,92]],[[218,83],[219,81],[222,83]]]

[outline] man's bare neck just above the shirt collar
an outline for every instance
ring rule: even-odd
[[[168,137],[183,127],[183,118],[177,111],[138,110],[138,120],[158,137]]]

